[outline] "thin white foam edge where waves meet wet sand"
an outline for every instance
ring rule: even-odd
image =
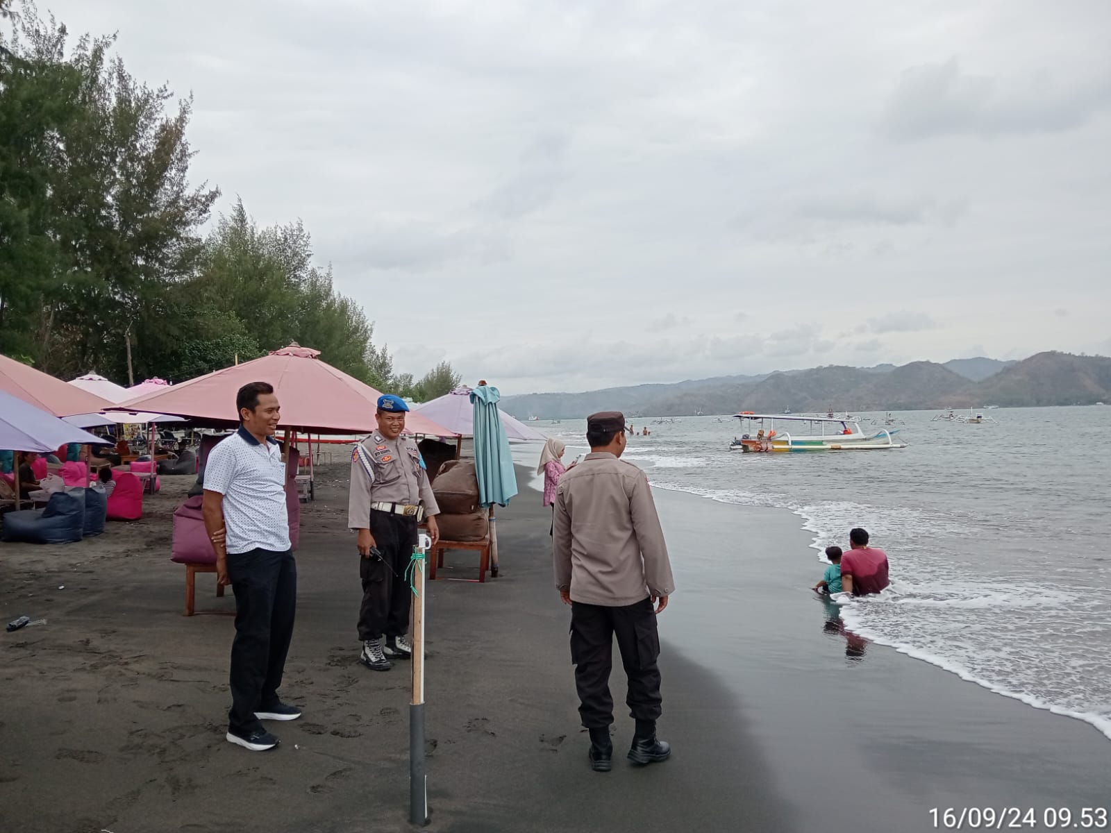
[[[649,471],[649,474],[651,475],[650,471]],[[808,524],[812,523],[812,521],[811,521],[811,519],[807,518],[807,515],[804,515],[800,510],[790,509],[788,506],[774,506],[774,505],[769,505],[769,506],[753,506],[753,505],[750,505],[750,504],[744,504],[744,503],[738,503],[738,502],[733,502],[733,501],[729,501],[729,500],[723,500],[723,499],[721,499],[719,496],[715,496],[715,495],[712,495],[712,494],[699,494],[695,491],[682,489],[682,488],[679,488],[679,486],[675,486],[675,485],[658,485],[658,484],[653,483],[652,488],[654,490],[660,490],[660,491],[669,492],[669,493],[673,493],[673,494],[683,494],[683,495],[688,495],[688,496],[691,496],[691,498],[698,498],[700,500],[708,500],[708,501],[711,501],[713,503],[719,503],[719,504],[727,505],[727,506],[739,506],[739,508],[742,508],[742,509],[770,510],[770,511],[783,512],[783,513],[793,515],[794,518],[799,519],[799,521],[800,521],[800,524],[799,524],[800,531],[802,531],[803,533],[805,533],[807,535],[810,536],[809,548],[817,551],[817,553],[815,553],[817,554],[817,559],[815,559],[814,563],[815,564],[825,564],[825,563],[828,563],[828,562],[824,561],[824,559],[821,558],[821,550],[820,550],[820,546],[818,544],[818,541],[821,538],[821,532],[819,532],[818,530],[814,530],[814,529],[812,529],[811,526],[808,525]],[[952,674],[953,676],[960,679],[962,682],[971,683],[971,684],[973,684],[973,685],[975,685],[978,688],[981,688],[981,689],[984,689],[988,692],[991,692],[992,694],[997,694],[997,695],[999,695],[1001,697],[1005,697],[1007,700],[1018,701],[1018,702],[1020,702],[1020,703],[1022,703],[1022,704],[1024,704],[1027,706],[1030,706],[1031,709],[1035,709],[1038,711],[1043,711],[1043,712],[1049,712],[1050,714],[1053,714],[1055,716],[1068,717],[1070,720],[1074,720],[1074,721],[1079,721],[1081,723],[1085,723],[1089,726],[1093,727],[1097,732],[1099,732],[1100,734],[1102,734],[1107,740],[1111,740],[1111,720],[1107,720],[1104,717],[1101,717],[1098,714],[1092,714],[1090,712],[1071,711],[1071,710],[1064,709],[1062,706],[1058,706],[1058,705],[1053,705],[1051,703],[1047,703],[1047,702],[1044,702],[1042,700],[1039,700],[1038,697],[1011,691],[1011,690],[1007,689],[1005,686],[992,683],[992,682],[990,682],[988,680],[982,680],[982,679],[975,676],[970,671],[968,671],[968,669],[961,666],[958,663],[949,662],[949,661],[944,660],[943,658],[939,658],[939,656],[937,656],[934,654],[929,653],[928,651],[923,651],[921,649],[918,649],[914,645],[909,645],[909,644],[905,644],[905,643],[898,642],[895,640],[890,640],[887,636],[884,636],[883,634],[875,632],[874,630],[871,630],[871,629],[869,629],[867,626],[862,626],[862,625],[858,624],[857,622],[853,621],[854,618],[852,616],[852,612],[853,612],[852,611],[852,605],[843,605],[843,606],[841,606],[841,618],[842,618],[843,621],[845,621],[845,626],[849,630],[851,630],[853,633],[855,633],[857,635],[859,635],[859,636],[861,636],[861,638],[863,638],[865,640],[869,640],[870,642],[874,642],[875,644],[882,645],[882,646],[884,646],[887,649],[890,649],[890,650],[892,650],[892,651],[894,651],[897,653],[903,654],[904,656],[907,656],[909,659],[915,660],[918,662],[922,662],[922,663],[924,663],[927,665],[931,665],[931,666],[933,666],[935,669],[944,671],[945,673]],[[849,614],[849,615],[847,616],[845,614]]]

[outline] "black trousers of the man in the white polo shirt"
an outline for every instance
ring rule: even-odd
[[[228,553],[228,578],[236,593],[228,729],[249,734],[262,726],[254,712],[278,703],[297,612],[297,562],[289,550]]]

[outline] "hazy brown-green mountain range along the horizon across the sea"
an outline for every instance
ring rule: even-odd
[[[1050,351],[1023,361],[975,358],[944,364],[828,365],[582,393],[530,393],[503,398],[502,408],[519,419],[581,419],[609,410],[640,416],[683,416],[699,411],[894,411],[1101,401],[1111,402],[1111,359]]]

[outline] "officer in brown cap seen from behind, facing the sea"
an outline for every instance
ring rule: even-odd
[[[618,411],[589,416],[590,453],[556,491],[556,586],[571,605],[579,715],[590,732],[588,756],[595,772],[609,772],[613,755],[614,634],[629,678],[625,702],[637,721],[628,757],[643,765],[671,755],[671,746],[655,737],[663,703],[655,616],[675,586],[648,476],[619,459],[628,445],[624,426]]]

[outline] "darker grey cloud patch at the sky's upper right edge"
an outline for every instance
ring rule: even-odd
[[[1107,77],[1061,81],[1043,70],[1001,80],[962,72],[950,58],[902,72],[884,106],[882,129],[897,141],[1058,132],[1083,124],[1109,106]]]

